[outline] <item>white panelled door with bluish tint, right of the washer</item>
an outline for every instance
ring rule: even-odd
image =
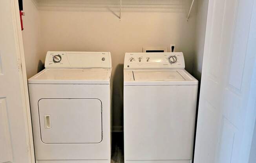
[[[247,163],[256,117],[256,0],[209,0],[194,163]]]

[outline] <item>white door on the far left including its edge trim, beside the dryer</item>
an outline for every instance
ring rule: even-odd
[[[31,163],[34,155],[18,18],[18,1],[0,0],[0,163]]]

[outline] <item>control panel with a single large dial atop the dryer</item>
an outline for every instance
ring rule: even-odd
[[[45,68],[112,68],[110,52],[48,51]]]

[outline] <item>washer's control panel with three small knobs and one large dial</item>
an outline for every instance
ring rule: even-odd
[[[125,53],[124,69],[185,69],[182,52]]]

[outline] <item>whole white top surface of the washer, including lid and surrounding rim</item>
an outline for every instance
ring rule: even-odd
[[[184,69],[124,70],[126,85],[198,85],[198,81]]]

